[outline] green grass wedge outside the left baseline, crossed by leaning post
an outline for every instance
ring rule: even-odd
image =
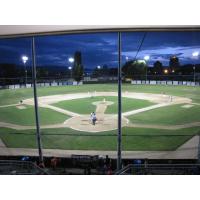
[[[39,108],[40,124],[62,123],[69,117],[48,108]],[[18,109],[15,106],[0,108],[0,121],[18,125],[35,125],[35,111],[33,106]]]

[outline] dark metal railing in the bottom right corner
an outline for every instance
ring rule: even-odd
[[[129,164],[116,175],[189,175],[200,174],[200,164]]]

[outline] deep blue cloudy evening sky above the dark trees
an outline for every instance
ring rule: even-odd
[[[143,36],[144,32],[122,33],[123,62],[135,57]],[[117,33],[40,36],[36,37],[36,62],[38,66],[68,67],[68,58],[81,51],[85,68],[104,64],[117,67],[117,47]],[[192,57],[194,51],[200,51],[200,32],[148,32],[137,59],[149,55],[149,65],[159,60],[168,66],[170,56],[176,55],[182,65],[200,63],[200,57]],[[0,40],[0,63],[21,65],[22,55],[29,57],[27,65],[30,65],[30,38]]]

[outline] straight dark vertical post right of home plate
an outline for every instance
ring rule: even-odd
[[[121,161],[121,122],[122,122],[122,103],[121,103],[121,32],[118,32],[118,139],[117,139],[117,170],[122,167]]]

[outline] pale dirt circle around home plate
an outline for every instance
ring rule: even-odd
[[[97,122],[95,125],[92,125],[89,115],[82,115],[72,117],[64,122],[68,127],[85,132],[102,132],[110,131],[117,129],[118,126],[118,117],[117,115],[101,115],[97,116]],[[128,123],[128,119],[122,118],[122,127]]]

